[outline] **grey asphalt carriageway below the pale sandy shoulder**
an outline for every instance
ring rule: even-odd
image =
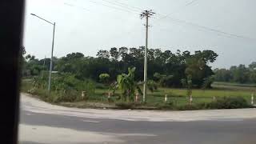
[[[22,107],[30,104],[29,102],[22,102]],[[69,116],[68,114],[46,114],[32,111],[21,108],[19,139],[22,144],[256,143],[256,118],[150,122],[147,120],[130,121],[107,117],[86,118]],[[94,113],[91,114],[94,115]]]

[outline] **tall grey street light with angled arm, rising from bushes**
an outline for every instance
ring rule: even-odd
[[[54,34],[55,34],[55,22],[54,22],[54,23],[53,23],[53,22],[49,22],[49,21],[47,21],[46,19],[41,18],[41,17],[39,17],[39,16],[38,16],[38,15],[36,15],[36,14],[31,14],[31,15],[33,15],[33,16],[35,16],[35,17],[38,17],[38,18],[42,19],[43,21],[48,22],[48,23],[50,23],[51,25],[53,25],[53,26],[54,26],[53,42],[52,42],[52,46],[51,46],[51,57],[50,57],[49,82],[48,82],[48,92],[50,92],[51,72],[52,72],[52,70],[53,70],[53,57],[54,57]]]

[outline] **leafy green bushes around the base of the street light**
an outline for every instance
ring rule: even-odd
[[[37,94],[41,92],[48,102],[74,102],[82,100],[81,93],[85,92],[85,98],[91,96],[95,92],[95,84],[91,80],[80,80],[74,74],[62,73],[53,74],[51,91],[48,93],[48,75],[43,77],[34,76],[32,78],[32,89],[27,92]]]

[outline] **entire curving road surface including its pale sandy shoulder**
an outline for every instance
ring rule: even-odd
[[[21,95],[21,144],[255,144],[256,109],[150,111],[53,106]]]

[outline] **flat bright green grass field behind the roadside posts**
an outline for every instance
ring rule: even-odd
[[[222,97],[242,97],[250,103],[251,94],[256,95],[256,87],[254,85],[243,85],[226,82],[214,82],[213,89],[200,90],[196,89],[192,91],[193,103],[212,102],[213,98]],[[30,84],[26,81],[22,81],[22,91],[30,90]],[[99,102],[107,103],[108,89],[96,89],[95,94],[90,95],[86,102]],[[78,92],[78,94],[80,94]],[[117,90],[115,97],[111,97],[112,102],[117,102],[118,95],[121,95],[121,91]],[[158,88],[153,93],[148,91],[146,101],[148,106],[157,106],[164,103],[165,94],[168,95],[168,102],[173,102],[176,106],[182,106],[189,103],[189,99],[186,96],[186,89],[174,89],[174,88]],[[78,95],[79,97],[79,95]],[[140,95],[142,100],[142,95]],[[256,98],[255,98],[256,99]],[[75,103],[75,102],[74,102]],[[81,103],[81,102],[79,102]]]

